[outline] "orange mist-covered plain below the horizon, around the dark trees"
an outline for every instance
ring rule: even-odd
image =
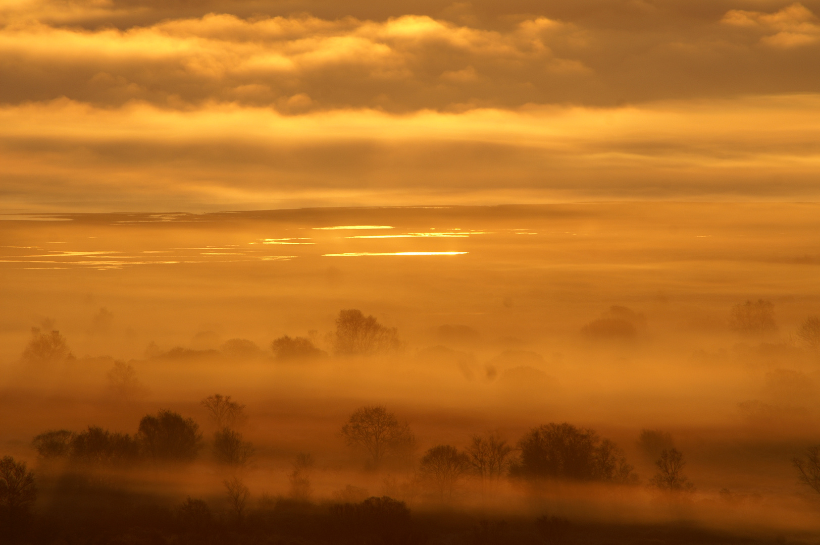
[[[792,459],[820,443],[820,356],[804,334],[820,314],[818,233],[813,204],[7,215],[0,454],[27,461],[34,512],[50,512],[73,462],[39,455],[35,436],[134,435],[167,409],[203,433],[193,461],[89,471],[168,509],[202,498],[225,520],[236,479],[245,515],[276,498],[389,496],[462,513],[466,528],[549,514],[810,539],[817,494]],[[755,305],[774,321],[744,330]],[[339,353],[352,309],[389,343]],[[54,330],[71,356],[33,357]],[[271,346],[285,336],[313,352],[286,357]],[[223,423],[201,402],[216,393],[244,405],[231,425],[253,446],[242,463],[214,449]],[[342,431],[367,406],[414,437],[379,464]],[[629,478],[508,476],[524,463],[513,451],[491,485],[465,471],[444,493],[425,479],[432,447],[464,452],[488,434],[522,447],[563,422],[615,443]],[[671,499],[653,485],[646,430],[682,453],[694,489]]]

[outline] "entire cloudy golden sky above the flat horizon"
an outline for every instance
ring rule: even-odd
[[[2,0],[0,208],[816,201],[818,14]]]

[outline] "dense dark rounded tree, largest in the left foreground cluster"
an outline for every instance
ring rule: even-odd
[[[197,423],[168,410],[143,416],[137,439],[154,461],[193,461],[202,447]]]

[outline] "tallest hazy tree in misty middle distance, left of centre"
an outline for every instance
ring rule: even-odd
[[[401,346],[396,328],[388,328],[362,311],[339,311],[336,318],[334,351],[341,356],[367,356],[396,350]]]

